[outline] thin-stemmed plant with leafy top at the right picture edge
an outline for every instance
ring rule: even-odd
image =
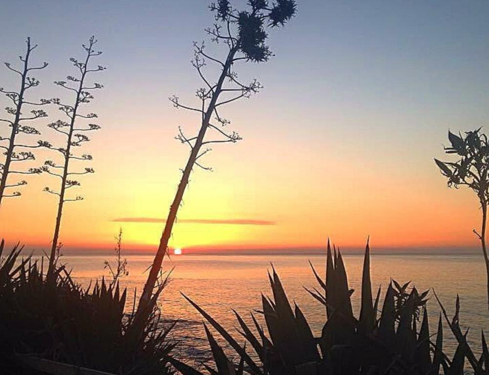
[[[473,230],[481,242],[482,253],[486,263],[487,293],[489,307],[489,257],[486,245],[486,225],[489,204],[489,140],[481,129],[456,135],[448,132],[451,146],[445,147],[446,154],[456,154],[456,161],[440,161],[436,165],[447,178],[448,187],[467,186],[479,199],[482,210],[481,230]]]

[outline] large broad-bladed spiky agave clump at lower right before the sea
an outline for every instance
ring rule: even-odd
[[[319,337],[315,337],[302,310],[292,307],[275,269],[268,275],[272,298],[262,295],[265,320],[262,327],[256,314],[251,313],[252,325],[234,311],[238,321],[239,339],[233,337],[206,311],[184,295],[204,319],[222,336],[240,358],[233,363],[204,324],[214,357],[214,365],[203,364],[209,374],[219,375],[463,375],[465,359],[477,375],[489,370],[489,351],[484,334],[483,353],[476,358],[459,326],[460,303],[452,320],[443,306],[445,320],[458,341],[450,360],[443,352],[442,317],[437,334],[431,340],[428,326],[426,296],[410,283],[392,281],[379,310],[380,287],[372,297],[370,279],[370,249],[367,244],[363,263],[361,308],[355,317],[351,304],[353,289],[348,287],[345,265],[339,250],[332,251],[328,243],[326,277],[321,278],[312,267],[319,289],[306,289],[326,309],[327,320]],[[436,294],[435,294],[436,295]],[[438,299],[438,296],[436,296]],[[378,311],[380,314],[378,314]],[[239,341],[244,340],[245,344]],[[247,351],[251,347],[252,352]],[[229,349],[229,348],[228,348]],[[172,364],[183,375],[202,373],[175,358]]]

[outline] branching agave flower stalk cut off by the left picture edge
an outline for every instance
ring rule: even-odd
[[[47,113],[42,109],[30,110],[30,114],[27,115],[25,114],[27,108],[32,106],[42,107],[50,103],[47,99],[41,99],[39,103],[34,103],[26,98],[27,90],[37,87],[40,84],[36,78],[29,75],[30,72],[32,70],[44,69],[48,65],[47,63],[44,63],[42,66],[31,66],[31,53],[37,47],[37,44],[31,45],[30,38],[27,38],[26,43],[27,51],[25,52],[25,55],[19,56],[19,59],[22,62],[22,67],[19,70],[12,67],[9,63],[5,63],[5,66],[8,69],[20,76],[20,88],[18,91],[10,91],[0,87],[0,92],[4,93],[13,103],[13,107],[8,106],[5,108],[11,118],[0,119],[0,122],[7,124],[7,131],[9,132],[9,135],[0,136],[0,149],[4,150],[2,154],[5,156],[0,163],[0,204],[3,198],[19,197],[21,195],[19,191],[7,193],[5,189],[16,188],[27,184],[27,181],[22,179],[21,181],[9,182],[7,185],[9,175],[31,175],[41,173],[39,168],[30,168],[28,170],[12,168],[12,163],[17,164],[22,161],[34,160],[35,156],[31,151],[28,151],[29,149],[50,146],[49,143],[44,141],[38,141],[36,145],[29,145],[24,144],[23,142],[19,143],[18,140],[20,134],[40,134],[32,123],[39,118],[47,116]],[[18,149],[21,149],[22,151],[18,151]]]

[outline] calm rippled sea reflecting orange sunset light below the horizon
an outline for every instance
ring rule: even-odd
[[[132,308],[134,288],[137,294],[145,281],[145,269],[151,265],[152,257],[130,255],[128,258],[129,276],[121,283],[128,287],[127,310]],[[72,274],[82,284],[107,276],[104,255],[65,256],[63,261],[72,267]],[[242,316],[249,317],[249,311],[261,309],[261,293],[269,294],[267,269],[273,263],[281,277],[290,301],[295,301],[318,334],[325,322],[325,311],[303,287],[317,287],[308,264],[312,264],[324,274],[323,255],[181,255],[166,258],[164,269],[173,267],[172,282],[160,298],[160,306],[165,319],[180,319],[179,330],[174,338],[182,341],[182,351],[194,347],[195,355],[207,351],[203,340],[202,319],[180,295],[185,293],[200,304],[223,326],[234,330],[236,321],[231,308]],[[352,296],[353,307],[359,311],[359,290],[363,256],[344,255],[350,287],[355,289]],[[470,327],[469,342],[479,352],[481,329],[489,330],[489,313],[486,303],[485,268],[479,255],[392,255],[373,254],[371,257],[372,283],[375,292],[378,286],[385,291],[390,278],[398,282],[412,281],[420,291],[434,288],[451,314],[454,311],[455,297],[461,298],[460,321],[462,328]],[[381,294],[383,296],[383,292]],[[434,333],[440,308],[432,293],[428,302],[430,332]],[[249,319],[248,319],[249,321]],[[445,324],[445,328],[446,324]],[[236,332],[236,331],[235,331]],[[445,329],[445,345],[453,350],[456,345],[451,334]],[[237,333],[237,332],[236,332]],[[238,334],[236,337],[240,337]]]

